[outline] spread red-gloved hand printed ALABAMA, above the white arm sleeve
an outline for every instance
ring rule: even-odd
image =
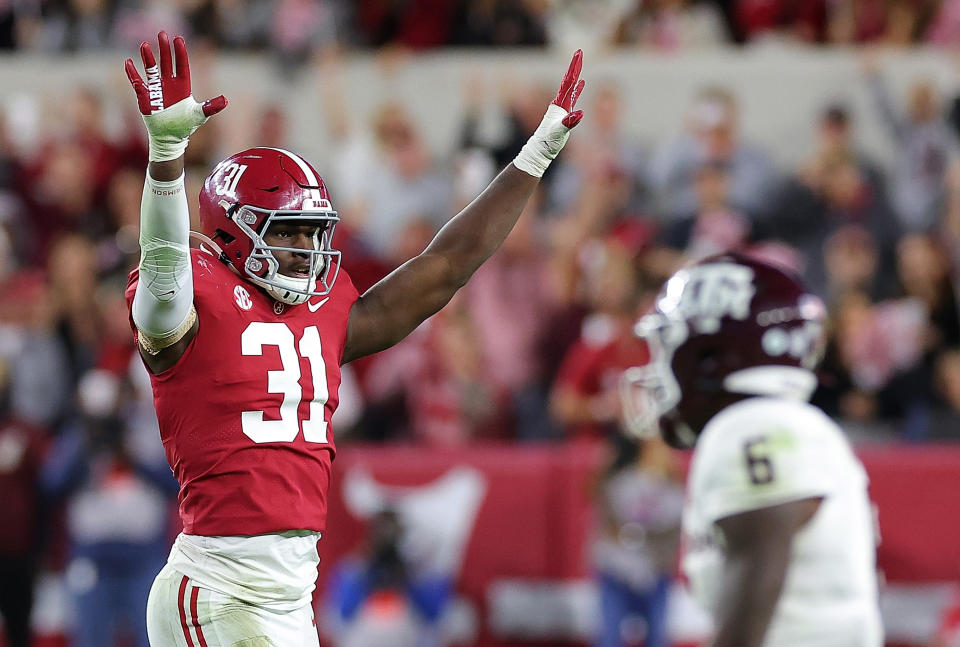
[[[159,67],[150,43],[140,44],[140,58],[143,60],[146,83],[131,59],[126,60],[124,68],[137,94],[140,114],[150,136],[150,161],[166,162],[183,155],[190,135],[211,115],[226,108],[227,99],[220,95],[202,104],[198,103],[190,91],[190,61],[183,38],[176,36],[173,39],[176,75],[173,55],[170,52],[170,37],[167,32],[161,31],[157,40]]]

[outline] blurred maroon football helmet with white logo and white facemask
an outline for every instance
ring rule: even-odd
[[[825,314],[798,277],[740,254],[678,271],[634,329],[650,362],[624,373],[627,428],[685,449],[745,396],[809,399]]]

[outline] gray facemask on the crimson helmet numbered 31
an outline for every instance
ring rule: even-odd
[[[264,218],[266,214],[266,218]],[[332,239],[336,223],[340,221],[332,209],[269,210],[243,205],[232,214],[232,220],[253,241],[253,250],[244,264],[247,278],[262,287],[271,297],[289,305],[299,305],[314,296],[330,293],[340,271],[340,252],[333,249]],[[319,232],[314,237],[313,249],[268,245],[263,235],[253,229],[258,221],[260,232],[266,234],[278,222],[296,221],[315,224]],[[279,273],[280,263],[274,252],[309,255],[308,276],[303,278]]]

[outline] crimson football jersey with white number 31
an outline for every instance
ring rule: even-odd
[[[322,531],[357,290],[341,269],[328,296],[290,306],[210,254],[191,257],[197,334],[176,365],[150,376],[183,530]],[[128,307],[138,277],[130,273]]]

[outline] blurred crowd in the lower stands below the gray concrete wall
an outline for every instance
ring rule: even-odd
[[[693,97],[686,130],[642,141],[625,127],[621,89],[591,86],[589,118],[502,250],[407,340],[349,367],[338,438],[611,437],[619,371],[646,360],[633,322],[675,269],[731,249],[794,269],[826,300],[816,402],[858,439],[960,438],[960,99],[925,80],[893,95],[881,59],[862,58],[892,159],[858,149],[842,103],[809,115],[812,152],[783,169],[742,137],[724,87]],[[403,105],[387,101],[365,123],[341,104],[337,74],[325,78],[335,154],[322,173],[342,218],[335,243],[361,291],[423,249],[510,162],[550,100],[539,87],[505,93],[504,127],[490,140],[471,110],[480,101],[465,97],[458,141],[441,158]],[[62,122],[31,147],[8,145],[0,120],[6,401],[10,415],[53,433],[83,412],[78,394],[92,371],[142,379],[123,300],[139,253],[141,125],[133,102],[104,105],[82,85],[68,92]],[[108,108],[126,115],[119,134],[106,134]],[[254,121],[248,139],[296,148],[282,104]],[[219,142],[231,128],[222,119],[192,138],[190,195],[230,152]],[[113,388],[133,392],[122,386]]]

